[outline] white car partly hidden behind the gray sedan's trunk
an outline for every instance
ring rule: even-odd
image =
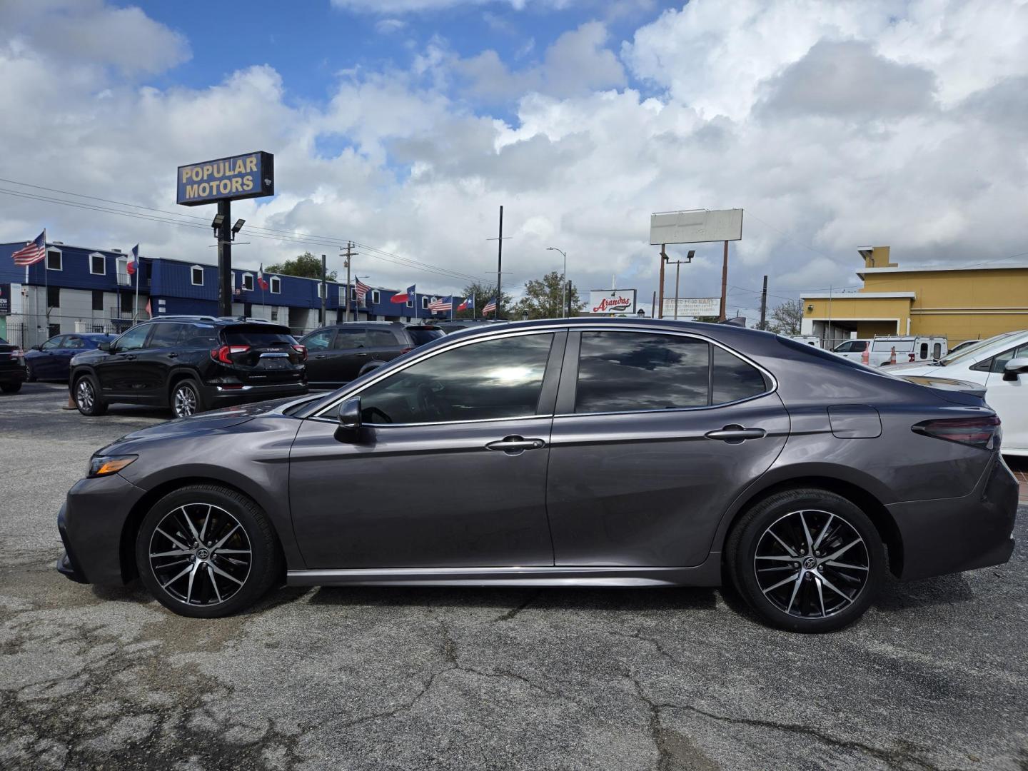
[[[1003,424],[1003,453],[1028,456],[1028,330],[1004,332],[938,362],[896,364],[888,373],[946,377],[985,386],[985,400]]]

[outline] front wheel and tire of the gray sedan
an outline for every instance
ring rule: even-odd
[[[164,608],[211,619],[253,605],[280,578],[283,558],[271,523],[250,498],[192,484],[164,495],[143,518],[136,566]]]

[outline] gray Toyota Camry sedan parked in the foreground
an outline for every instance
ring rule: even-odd
[[[293,586],[717,586],[838,629],[886,571],[1005,562],[1017,483],[978,387],[767,332],[647,319],[491,325],[328,395],[104,447],[58,570],[139,577],[185,616]]]

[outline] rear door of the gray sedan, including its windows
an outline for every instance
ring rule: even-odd
[[[556,412],[547,511],[558,565],[701,563],[788,434],[767,373],[680,333],[573,332]]]

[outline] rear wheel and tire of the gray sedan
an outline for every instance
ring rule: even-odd
[[[868,515],[817,488],[776,492],[754,505],[733,528],[726,554],[749,607],[770,626],[795,632],[853,623],[885,577],[885,547]]]

